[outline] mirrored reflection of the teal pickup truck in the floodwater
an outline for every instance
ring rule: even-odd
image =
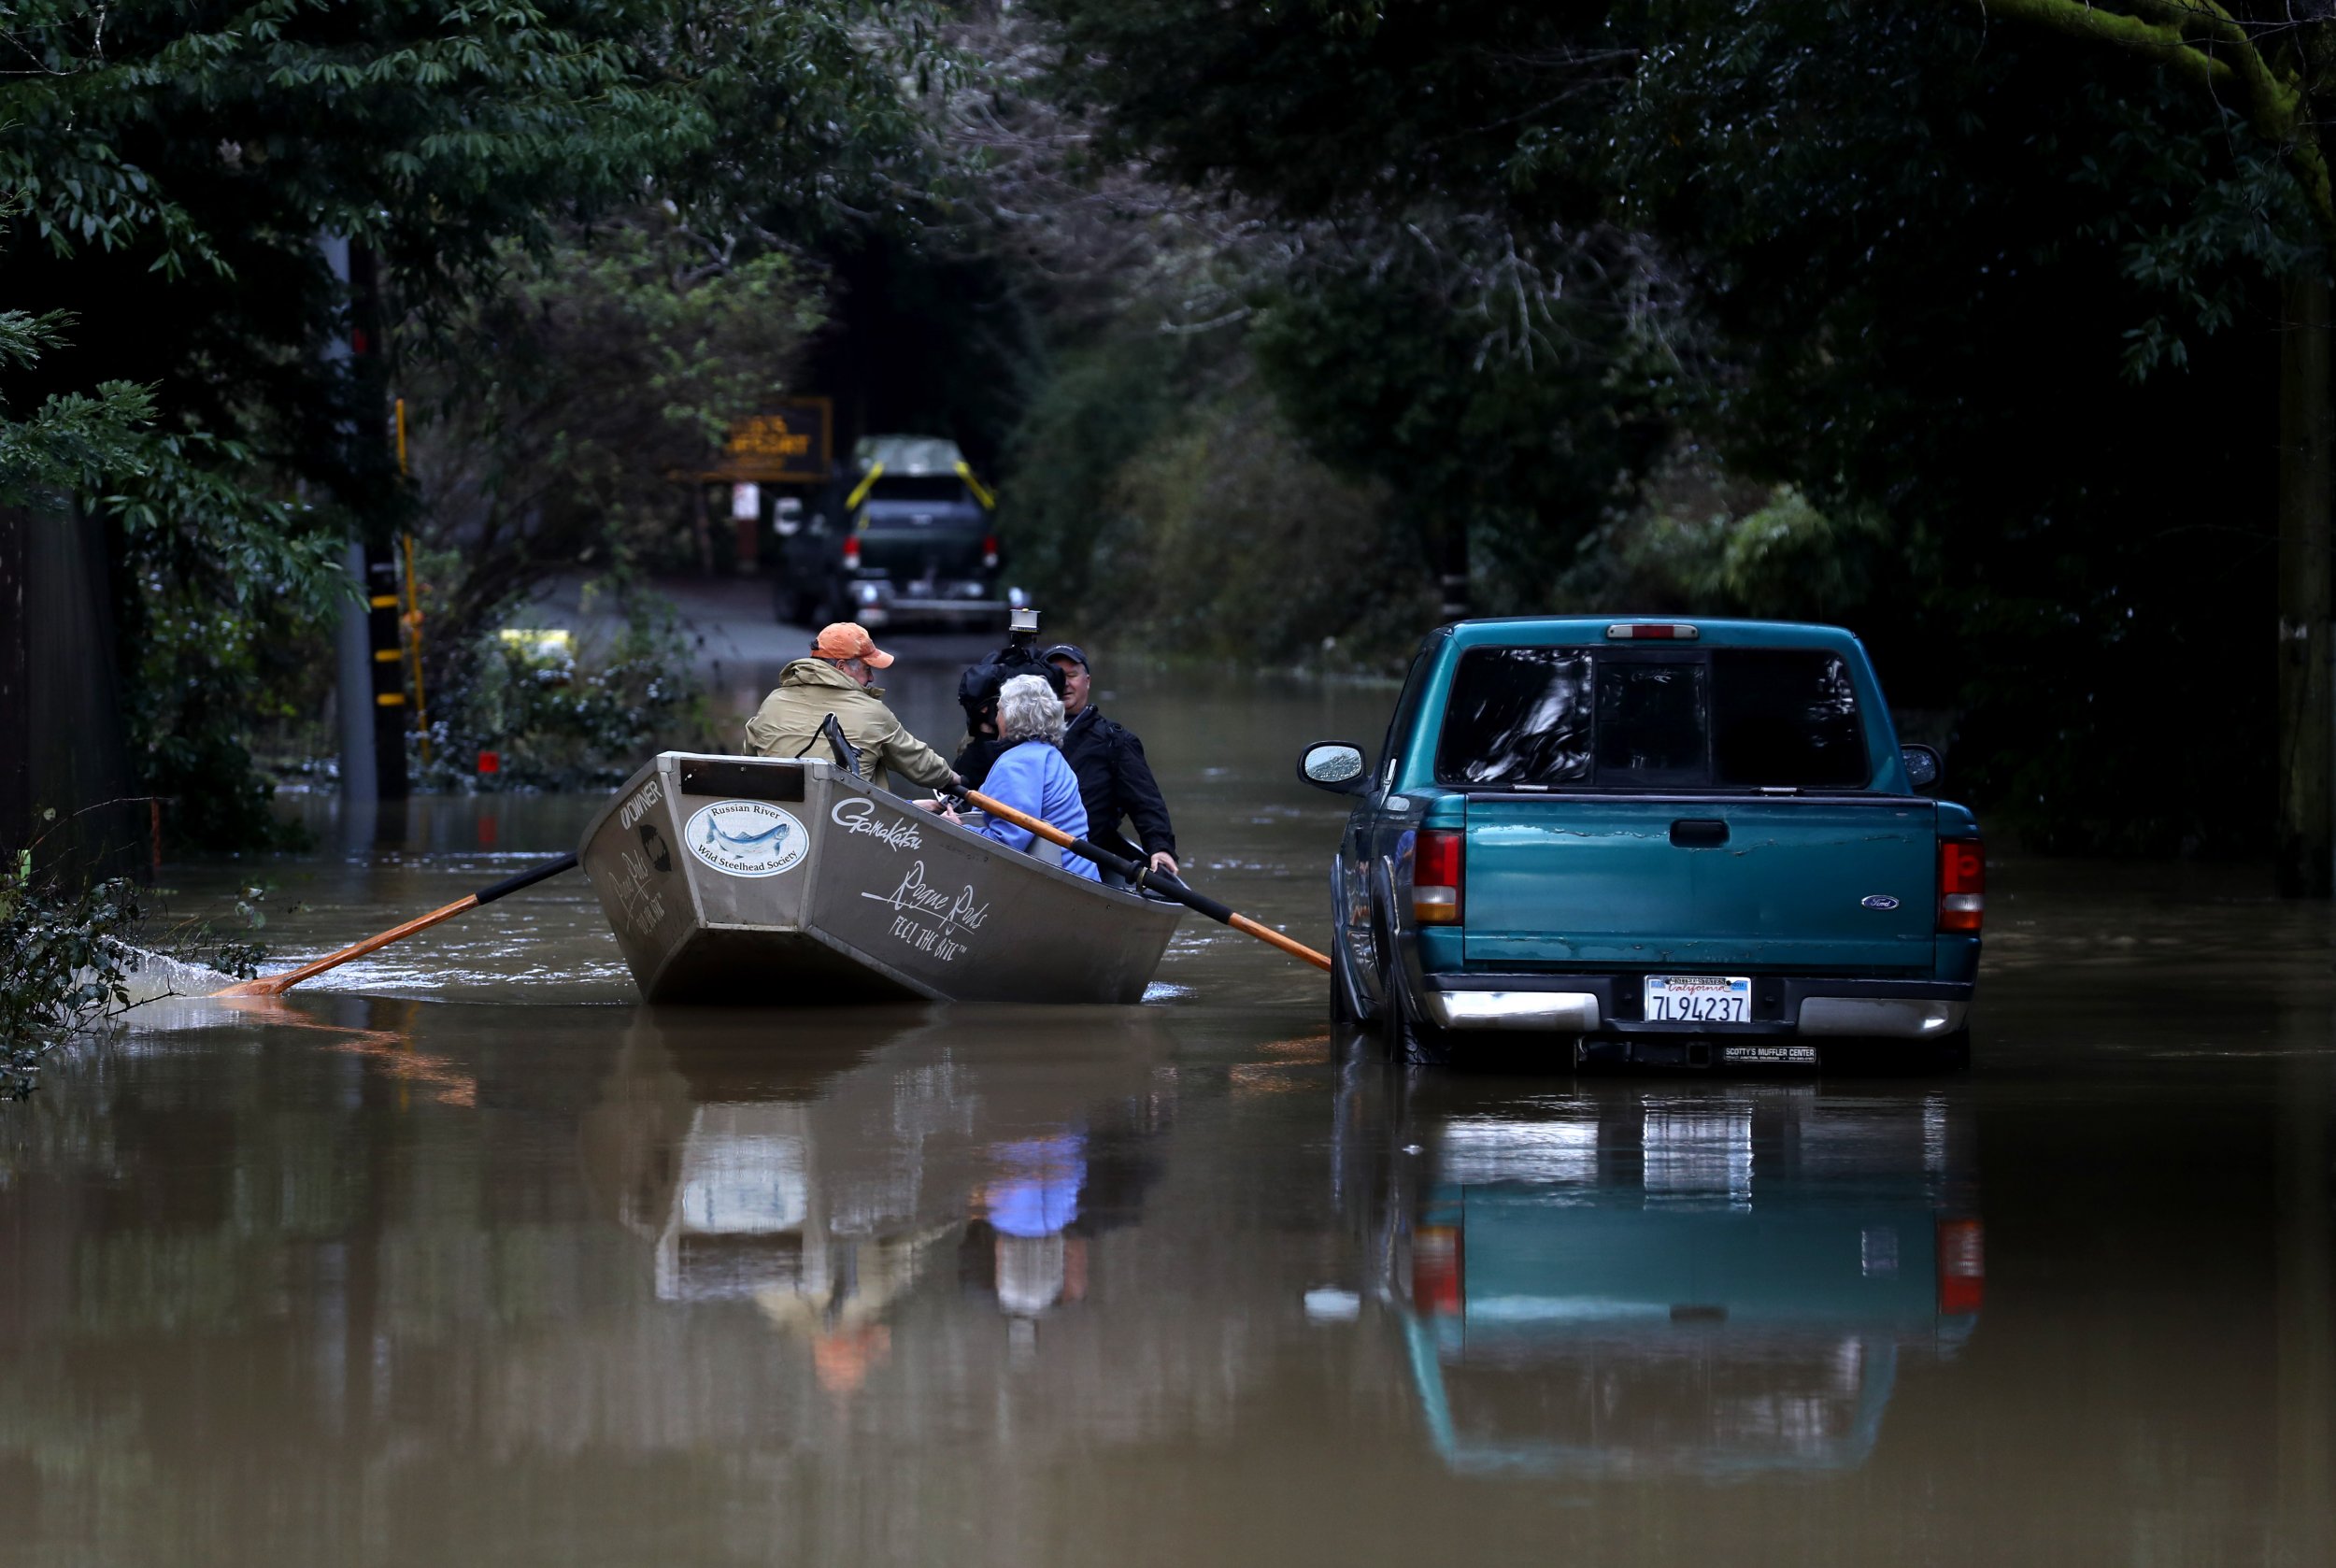
[[[1376,1290],[1453,1470],[1855,1468],[1902,1362],[1979,1323],[1969,1126],[1944,1096],[1397,1098]]]

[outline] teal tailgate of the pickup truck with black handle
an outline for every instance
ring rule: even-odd
[[[1493,797],[1467,804],[1474,965],[1927,970],[1927,799]]]

